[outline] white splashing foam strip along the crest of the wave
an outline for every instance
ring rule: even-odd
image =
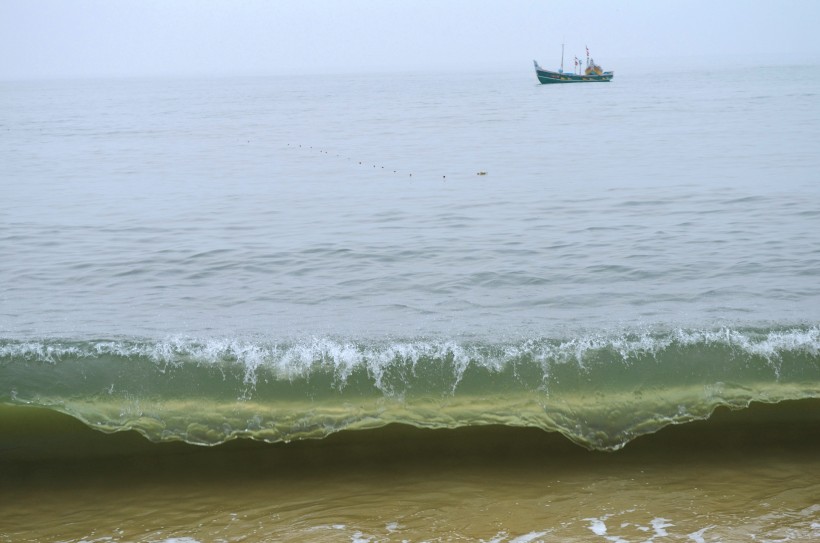
[[[460,374],[470,364],[500,371],[505,364],[523,357],[544,363],[583,364],[591,353],[614,351],[628,362],[639,356],[657,356],[670,346],[724,345],[738,352],[777,360],[785,353],[820,354],[820,327],[783,330],[697,330],[645,331],[639,334],[591,333],[566,339],[531,338],[520,342],[480,342],[456,339],[337,340],[312,337],[276,341],[266,338],[196,338],[171,336],[162,340],[4,341],[0,357],[24,358],[54,363],[65,358],[95,356],[147,357],[159,363],[178,365],[186,361],[221,363],[234,360],[251,374],[261,366],[275,366],[283,375],[299,376],[317,364],[332,367],[345,377],[357,367],[378,370],[397,360],[416,365],[422,359],[448,359]]]

